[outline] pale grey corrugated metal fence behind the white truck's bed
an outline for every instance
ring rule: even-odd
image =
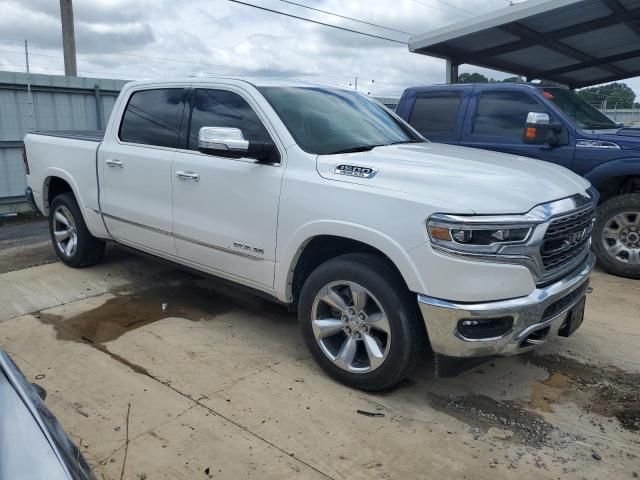
[[[0,72],[0,204],[22,201],[22,140],[28,131],[103,129],[125,83],[40,74],[28,82],[25,73]]]

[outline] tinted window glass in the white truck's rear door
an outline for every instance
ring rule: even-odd
[[[177,148],[185,100],[184,88],[135,92],[122,116],[120,140]]]

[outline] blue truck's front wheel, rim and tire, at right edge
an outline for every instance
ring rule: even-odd
[[[620,195],[598,207],[593,250],[608,272],[640,278],[640,193]]]

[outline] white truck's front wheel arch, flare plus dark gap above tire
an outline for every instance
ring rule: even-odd
[[[274,282],[276,295],[287,303],[296,302],[304,280],[315,267],[355,252],[380,255],[398,272],[410,291],[425,291],[407,251],[395,240],[361,225],[320,221],[300,229],[281,249],[282,260],[276,264]]]

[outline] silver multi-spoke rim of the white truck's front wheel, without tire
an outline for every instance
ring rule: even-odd
[[[355,282],[323,287],[313,301],[311,322],[322,352],[348,372],[371,372],[389,353],[387,315],[371,292]]]

